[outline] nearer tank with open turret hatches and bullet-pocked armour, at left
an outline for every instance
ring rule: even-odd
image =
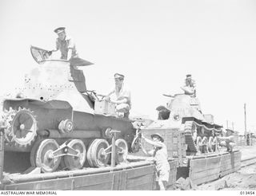
[[[31,166],[42,172],[76,170],[85,164],[104,167],[115,135],[116,162],[124,161],[135,129],[129,119],[94,110],[100,101],[86,89],[78,69],[92,63],[80,58],[50,60],[48,51],[33,46],[30,50],[37,67],[26,74],[16,96],[2,102],[5,151],[30,152]]]

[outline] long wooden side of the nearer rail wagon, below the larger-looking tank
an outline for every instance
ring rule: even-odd
[[[169,160],[171,190],[176,180],[176,161]],[[6,176],[3,190],[155,190],[154,165],[149,161],[117,167],[58,171],[50,174],[13,174]]]

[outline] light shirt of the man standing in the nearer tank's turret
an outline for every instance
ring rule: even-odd
[[[67,53],[69,49],[72,49],[71,57],[78,57],[78,51],[75,48],[74,41],[71,37],[65,37],[65,40],[60,40],[59,38],[56,39],[56,49],[60,50],[62,53],[61,59],[67,60]]]

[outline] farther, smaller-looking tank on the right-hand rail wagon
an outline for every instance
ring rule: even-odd
[[[217,151],[217,135],[222,131],[222,126],[214,123],[214,116],[202,114],[197,97],[186,93],[170,97],[166,106],[161,105],[157,108],[158,120],[155,124],[152,123],[151,127],[158,123],[163,127],[179,127],[185,132],[186,155]]]

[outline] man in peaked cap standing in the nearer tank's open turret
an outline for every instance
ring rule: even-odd
[[[54,29],[54,32],[58,34],[58,38],[56,39],[56,49],[50,51],[49,54],[51,55],[52,52],[60,50],[62,53],[61,59],[69,61],[70,58],[78,57],[78,51],[73,39],[66,35],[65,29],[65,27]]]

